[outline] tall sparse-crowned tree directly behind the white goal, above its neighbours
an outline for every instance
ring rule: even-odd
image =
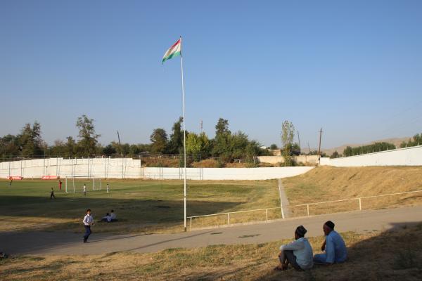
[[[94,155],[96,154],[96,145],[98,143],[98,137],[101,135],[95,132],[94,119],[90,119],[87,115],[82,115],[77,118],[76,122],[77,129],[79,129],[80,138],[78,141],[79,152],[82,155]]]

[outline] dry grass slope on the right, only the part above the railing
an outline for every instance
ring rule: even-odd
[[[300,176],[285,178],[283,185],[290,205],[422,190],[422,166],[323,166]],[[406,200],[405,197],[409,196],[383,200],[394,199],[391,204],[407,201],[405,203],[408,204],[416,199],[421,201],[422,192],[412,195],[411,200]]]

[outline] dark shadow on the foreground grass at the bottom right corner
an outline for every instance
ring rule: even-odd
[[[253,280],[422,280],[422,223],[395,223],[392,227],[349,245],[345,263],[314,266],[305,272],[267,268],[267,273]]]

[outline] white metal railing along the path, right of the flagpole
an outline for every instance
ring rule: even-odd
[[[306,204],[297,204],[297,205],[288,205],[283,208],[290,208],[290,207],[305,207],[307,209],[307,216],[309,216],[309,206],[316,205],[316,204],[327,204],[327,203],[334,203],[334,202],[345,202],[345,201],[353,201],[357,200],[359,203],[359,211],[362,211],[362,199],[369,199],[369,198],[375,198],[375,197],[385,197],[385,196],[392,196],[392,195],[404,195],[404,194],[411,194],[416,192],[422,192],[422,190],[414,190],[414,191],[407,191],[407,192],[396,192],[396,193],[390,193],[390,194],[382,194],[382,195],[372,195],[372,196],[365,196],[365,197],[356,197],[356,198],[349,198],[349,199],[342,199],[342,200],[333,200],[333,201],[323,201],[323,202],[313,202],[313,203],[306,203]],[[265,220],[268,220],[268,210],[271,209],[281,209],[281,207],[272,207],[272,208],[264,208],[264,209],[253,209],[253,210],[246,210],[246,211],[229,211],[225,213],[216,213],[216,214],[207,214],[207,215],[201,215],[201,216],[188,216],[187,218],[190,220],[190,228],[192,229],[192,218],[204,218],[204,217],[210,217],[210,216],[227,216],[227,223],[226,225],[230,225],[230,214],[238,214],[238,213],[247,213],[252,211],[265,211]]]

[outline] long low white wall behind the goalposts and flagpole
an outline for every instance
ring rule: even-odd
[[[186,176],[197,180],[265,180],[304,174],[312,167],[188,168]],[[0,177],[95,176],[96,178],[181,179],[182,168],[141,166],[132,158],[34,159],[0,163]]]

